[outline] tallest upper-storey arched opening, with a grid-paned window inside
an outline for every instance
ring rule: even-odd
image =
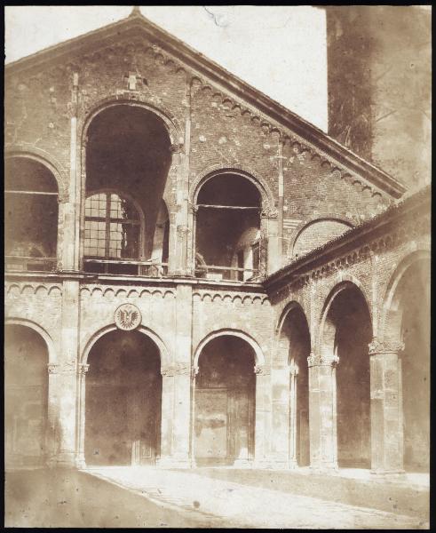
[[[154,240],[168,219],[162,212],[172,161],[167,124],[145,107],[121,102],[100,109],[86,135],[84,269],[162,274],[155,266],[166,259],[166,267],[168,254],[156,260]]]

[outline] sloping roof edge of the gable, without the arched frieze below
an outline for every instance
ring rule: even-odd
[[[210,79],[210,82],[220,85],[236,97],[245,100],[250,106],[258,108],[260,112],[269,116],[273,121],[281,124],[284,128],[288,128],[290,131],[294,131],[312,144],[313,147],[330,155],[338,163],[344,164],[348,169],[361,175],[364,179],[368,179],[369,182],[385,193],[392,195],[394,198],[399,198],[406,191],[400,181],[378,169],[376,165],[362,159],[359,155],[354,154],[312,123],[292,113],[288,108],[281,106],[281,104],[250,86],[250,84],[246,84],[225,68],[203,56],[202,53],[196,52],[178,38],[171,36],[162,28],[147,20],[139,12],[139,9],[134,9],[123,20],[45,48],[41,52],[36,52],[26,58],[13,61],[5,65],[5,74],[6,76],[12,75],[28,68],[37,68],[49,61],[61,60],[66,56],[71,56],[72,53],[80,52],[83,48],[90,47],[92,44],[126,35],[131,30],[143,32],[144,36],[152,39],[163,50],[170,52],[170,54],[183,61],[187,67],[192,68],[202,76],[206,76]]]

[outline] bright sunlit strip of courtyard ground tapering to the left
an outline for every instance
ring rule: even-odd
[[[222,527],[297,529],[428,529],[416,518],[279,490],[211,479],[199,473],[137,467],[87,471],[180,513],[221,517]],[[210,523],[210,527],[214,527]]]

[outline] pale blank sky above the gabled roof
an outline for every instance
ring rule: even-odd
[[[5,7],[6,63],[127,17],[132,6]],[[141,6],[173,36],[327,131],[325,14],[311,6]]]

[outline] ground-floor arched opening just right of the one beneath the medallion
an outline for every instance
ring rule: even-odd
[[[247,465],[253,459],[254,365],[254,350],[242,338],[223,335],[202,348],[194,395],[196,465]]]

